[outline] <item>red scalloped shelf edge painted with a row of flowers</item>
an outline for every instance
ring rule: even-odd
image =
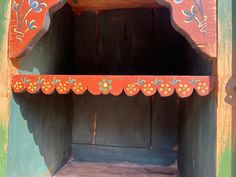
[[[81,95],[88,90],[93,95],[118,96],[124,91],[134,96],[142,91],[145,96],[152,96],[158,91],[163,97],[176,92],[186,98],[194,89],[200,96],[208,95],[214,80],[211,76],[15,75],[11,85],[15,93],[68,94],[72,91]]]

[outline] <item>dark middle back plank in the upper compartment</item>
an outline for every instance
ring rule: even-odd
[[[99,74],[148,73],[148,61],[152,59],[152,10],[104,11],[99,13],[98,25],[98,62],[102,63]]]

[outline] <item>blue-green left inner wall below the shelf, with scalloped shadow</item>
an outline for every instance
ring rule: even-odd
[[[70,157],[71,97],[14,95],[9,126],[8,177],[50,177]]]

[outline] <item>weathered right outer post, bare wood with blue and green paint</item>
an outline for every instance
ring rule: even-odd
[[[217,177],[234,177],[233,142],[235,142],[236,70],[235,52],[232,48],[235,31],[235,6],[232,0],[218,1],[218,93],[217,93]],[[229,13],[230,12],[230,13]],[[234,26],[233,26],[234,25]],[[235,44],[235,42],[234,42]],[[233,53],[234,52],[234,53]],[[233,55],[234,54],[234,55]],[[234,172],[234,174],[233,174]]]

